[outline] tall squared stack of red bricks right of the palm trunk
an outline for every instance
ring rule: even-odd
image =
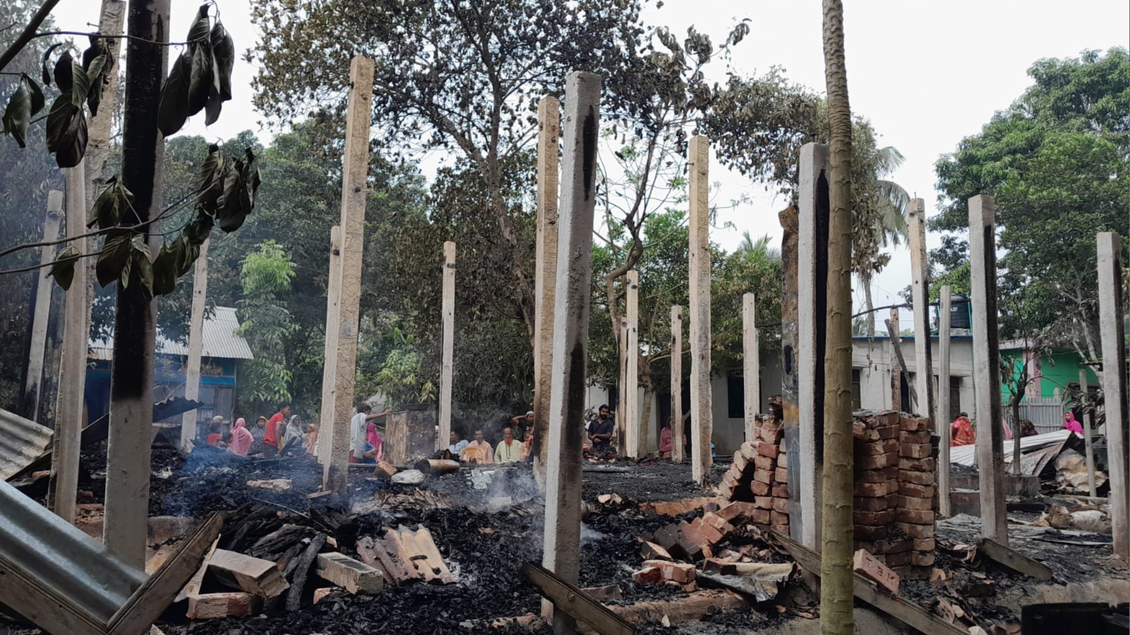
[[[928,576],[933,564],[933,446],[929,418],[855,412],[855,548],[901,577]]]

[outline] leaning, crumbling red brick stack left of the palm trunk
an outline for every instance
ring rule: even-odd
[[[754,424],[754,440],[733,454],[730,470],[722,477],[720,494],[728,501],[754,504],[754,524],[789,534],[789,463],[781,419],[760,415]]]

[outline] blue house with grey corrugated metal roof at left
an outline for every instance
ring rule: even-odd
[[[198,420],[208,420],[215,415],[232,419],[240,363],[254,358],[247,340],[236,334],[238,328],[240,320],[235,315],[235,308],[231,306],[217,306],[211,319],[205,320],[199,398],[203,406],[197,410]],[[93,421],[110,410],[113,348],[113,338],[89,342],[89,365],[86,372],[87,421]],[[156,350],[154,401],[174,395],[183,397],[188,342],[181,343],[158,334]]]

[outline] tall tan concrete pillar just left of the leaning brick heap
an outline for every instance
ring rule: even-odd
[[[710,385],[710,140],[690,138],[690,473],[710,481],[710,443],[714,432]]]

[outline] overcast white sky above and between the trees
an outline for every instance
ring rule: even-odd
[[[96,24],[96,0],[62,0],[53,16],[62,31],[89,31]],[[173,0],[172,35],[183,37],[198,2]],[[258,40],[246,0],[219,0],[221,18],[242,52]],[[1130,41],[1130,3],[1125,0],[1002,1],[866,0],[845,2],[847,86],[852,112],[871,120],[881,145],[898,148],[906,163],[893,179],[912,194],[925,199],[935,214],[933,163],[966,136],[976,133],[994,111],[1005,108],[1031,84],[1027,68],[1040,58],[1078,55],[1084,49],[1125,46]],[[792,81],[824,92],[824,53],[820,2],[774,0],[667,0],[650,8],[650,24],[668,25],[680,37],[695,24],[719,42],[737,19],[751,18],[750,33],[734,50],[739,73],[762,73],[784,67]],[[242,56],[241,56],[242,58]],[[223,139],[260,127],[262,116],[251,106],[254,69],[237,58],[235,95],[211,128],[195,116],[181,132]],[[266,139],[264,139],[266,141]],[[753,197],[748,206],[727,210],[720,224],[736,228],[715,232],[713,238],[732,250],[741,232],[774,236],[780,245],[776,212],[783,200],[759,183],[712,166],[711,181],[722,188],[718,202]],[[937,235],[928,235],[937,246]],[[910,284],[910,254],[896,250],[894,259],[875,280],[876,305],[897,299]],[[857,292],[857,305],[861,292]]]

